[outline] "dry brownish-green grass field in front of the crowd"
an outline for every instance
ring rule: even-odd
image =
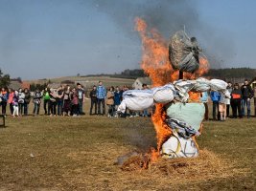
[[[162,164],[171,160],[148,170],[114,165],[128,152],[155,146],[150,118],[7,117],[0,128],[0,190],[253,190],[255,119],[204,122],[200,157],[166,173]]]

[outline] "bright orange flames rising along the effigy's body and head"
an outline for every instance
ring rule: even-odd
[[[178,71],[172,68],[169,60],[168,42],[155,29],[148,30],[147,23],[141,18],[135,18],[135,30],[142,39],[141,68],[151,77],[152,86],[162,86],[178,79]],[[204,74],[208,70],[208,62],[200,58],[200,67],[197,73],[184,73],[184,78],[192,79]],[[195,96],[195,99],[198,96]],[[166,114],[164,104],[156,104],[152,122],[156,132],[157,150],[151,149],[151,160],[158,159],[162,144],[172,135],[172,130],[165,123]]]

